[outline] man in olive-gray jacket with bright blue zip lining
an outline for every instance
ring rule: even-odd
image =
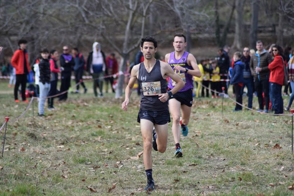
[[[263,111],[263,96],[265,100],[265,110],[268,112],[268,107],[270,103],[269,97],[269,78],[270,70],[268,69],[268,64],[273,61],[271,55],[267,50],[264,49],[263,42],[258,40],[256,42],[256,53],[250,59],[250,71],[254,78],[254,86],[257,92],[259,110]]]

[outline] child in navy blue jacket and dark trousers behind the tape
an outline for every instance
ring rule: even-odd
[[[242,104],[242,94],[241,88],[243,87],[243,70],[244,70],[244,63],[241,62],[242,54],[240,52],[235,52],[233,59],[234,59],[234,66],[232,70],[232,77],[230,80],[230,84],[234,85],[235,88],[235,97],[236,102]],[[235,109],[233,111],[240,111],[242,110],[242,106],[236,103]]]

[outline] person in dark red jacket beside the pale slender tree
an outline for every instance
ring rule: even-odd
[[[115,54],[111,53],[107,58],[106,58],[106,66],[108,70],[108,75],[113,75],[118,72],[118,64],[117,60],[115,58]],[[108,82],[110,82],[112,92],[115,92],[113,89],[113,76],[105,78],[105,83],[106,83],[106,92],[108,92]]]

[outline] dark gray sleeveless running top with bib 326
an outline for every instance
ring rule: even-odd
[[[141,87],[141,110],[164,111],[168,110],[168,102],[161,102],[158,94],[166,93],[166,80],[161,75],[160,61],[148,73],[144,62],[140,63],[138,80]]]

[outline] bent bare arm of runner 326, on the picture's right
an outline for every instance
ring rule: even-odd
[[[165,75],[169,76],[171,79],[173,79],[176,82],[175,87],[171,89],[172,94],[175,94],[178,92],[180,89],[182,89],[185,86],[184,81],[180,78],[178,74],[176,74],[173,71],[173,68],[171,68],[170,65],[168,65],[165,62],[161,62],[161,67],[165,71]],[[166,102],[169,98],[167,93],[159,94],[159,100],[162,102]]]

